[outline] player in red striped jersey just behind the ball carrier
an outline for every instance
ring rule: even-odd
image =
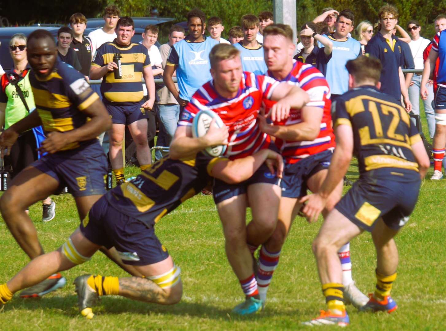
[[[266,292],[279,262],[281,248],[294,218],[302,204],[299,198],[307,189],[318,192],[324,181],[335,148],[335,136],[331,126],[330,88],[322,73],[310,64],[293,60],[293,31],[289,25],[269,25],[264,29],[265,61],[267,75],[280,82],[300,86],[310,96],[310,102],[301,108],[290,110],[285,121],[266,123],[259,116],[260,130],[276,137],[275,142],[285,157],[284,176],[281,181],[282,197],[279,223],[273,235],[260,249],[257,282],[260,298],[266,300]],[[266,111],[274,105],[266,101]],[[324,216],[339,201],[342,181],[328,198]],[[346,297],[355,306],[363,306],[368,298],[355,286],[351,278],[350,244],[339,250],[343,265],[343,284]]]

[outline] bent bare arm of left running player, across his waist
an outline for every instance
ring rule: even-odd
[[[88,89],[90,90],[90,89]],[[84,93],[89,93],[85,91]],[[82,99],[82,94],[80,95]],[[42,152],[55,153],[70,143],[96,138],[102,132],[111,128],[111,119],[103,103],[97,99],[83,112],[91,118],[90,121],[77,129],[67,132],[50,132],[42,142]],[[29,117],[29,116],[28,116]],[[26,117],[25,117],[26,118]]]

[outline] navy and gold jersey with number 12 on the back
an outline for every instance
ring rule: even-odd
[[[411,145],[421,140],[409,115],[394,97],[374,86],[343,94],[333,104],[335,127],[353,129],[361,176],[407,181],[419,178]]]

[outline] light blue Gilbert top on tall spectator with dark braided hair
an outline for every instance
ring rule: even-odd
[[[166,65],[177,65],[177,82],[180,98],[190,100],[195,91],[212,79],[209,53],[219,42],[206,38],[202,42],[186,39],[172,46]]]

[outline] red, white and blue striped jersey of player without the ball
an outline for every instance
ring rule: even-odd
[[[310,96],[310,101],[306,106],[321,108],[323,115],[321,131],[313,141],[289,141],[276,138],[276,145],[285,157],[287,163],[296,163],[307,156],[335,148],[335,135],[333,134],[331,123],[330,87],[322,73],[313,65],[304,64],[296,60],[293,60],[293,62],[293,69],[291,69],[288,76],[282,79],[281,82],[288,82],[289,84],[299,86]],[[267,75],[274,78],[269,70]],[[275,101],[265,102],[267,114],[274,103]],[[293,125],[300,122],[302,122],[301,110],[291,109],[288,119],[274,124]]]

